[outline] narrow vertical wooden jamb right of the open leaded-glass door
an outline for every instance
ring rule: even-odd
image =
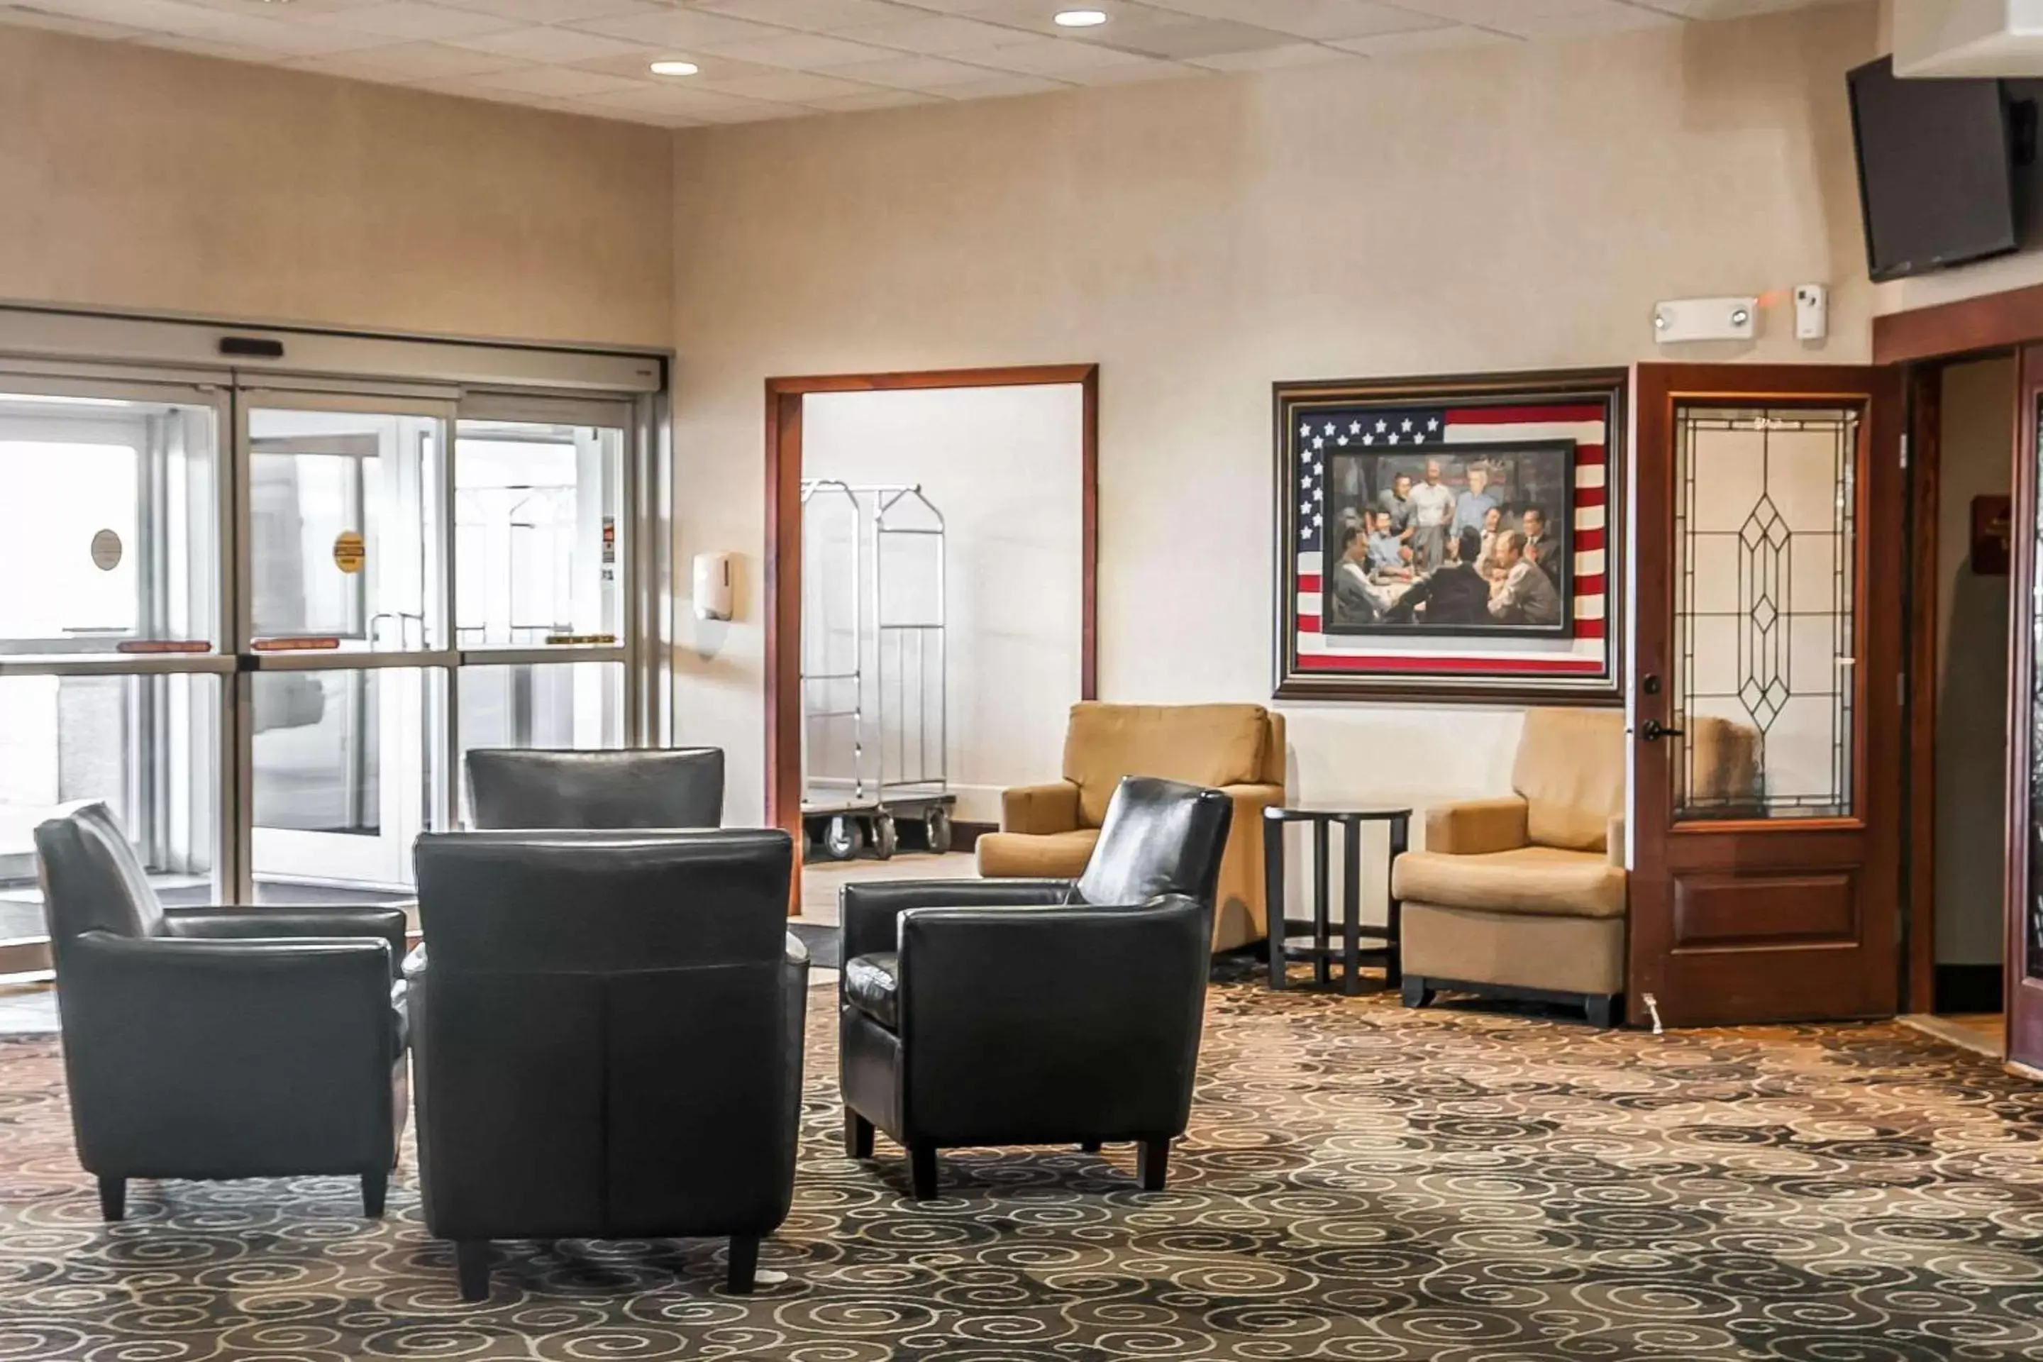
[[[1937,1011],[1937,553],[1943,488],[1943,366],[1908,372],[1908,905],[1904,1005]]]

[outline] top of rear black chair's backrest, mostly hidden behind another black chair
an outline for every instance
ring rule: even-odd
[[[478,747],[468,753],[476,827],[719,827],[723,749],[545,751]]]

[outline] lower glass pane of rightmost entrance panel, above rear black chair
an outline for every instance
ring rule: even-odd
[[[621,662],[468,666],[458,672],[458,686],[464,764],[476,747],[623,747]]]

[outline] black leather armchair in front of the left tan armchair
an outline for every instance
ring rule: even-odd
[[[874,1127],[909,1152],[1140,1144],[1160,1190],[1185,1133],[1214,884],[1232,802],[1128,776],[1077,880],[846,884],[840,976],[844,1144]]]

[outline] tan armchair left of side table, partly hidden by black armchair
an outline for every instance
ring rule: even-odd
[[[1189,780],[1234,800],[1214,894],[1214,950],[1254,941],[1267,921],[1263,809],[1283,802],[1283,715],[1261,704],[1073,704],[1064,778],[1001,794],[1001,831],[979,839],[979,874],[1075,876],[1122,776]]]

